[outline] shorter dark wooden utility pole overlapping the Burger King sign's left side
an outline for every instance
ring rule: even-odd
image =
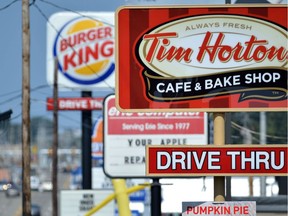
[[[58,216],[58,60],[54,59],[53,83],[53,147],[52,147],[52,215]]]

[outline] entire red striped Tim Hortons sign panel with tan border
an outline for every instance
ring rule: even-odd
[[[284,111],[287,7],[122,7],[116,15],[122,111]]]

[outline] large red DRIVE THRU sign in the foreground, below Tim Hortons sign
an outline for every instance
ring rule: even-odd
[[[286,145],[147,146],[147,176],[285,176]]]

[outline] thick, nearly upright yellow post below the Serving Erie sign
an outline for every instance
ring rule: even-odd
[[[124,179],[112,179],[119,216],[131,216],[129,208],[129,196],[127,194],[126,182]]]

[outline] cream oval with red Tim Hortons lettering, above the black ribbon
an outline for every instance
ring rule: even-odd
[[[158,26],[143,35],[136,49],[145,67],[161,76],[193,77],[287,67],[286,43],[286,30],[273,23],[246,16],[203,15]]]

